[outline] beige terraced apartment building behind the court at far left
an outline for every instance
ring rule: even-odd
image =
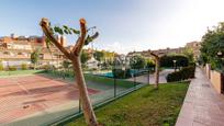
[[[66,46],[64,36],[56,36],[58,42]],[[46,47],[44,36],[11,36],[0,37],[0,60],[4,67],[31,65],[31,54],[38,49],[38,65],[58,65],[64,60],[64,55],[55,47]]]

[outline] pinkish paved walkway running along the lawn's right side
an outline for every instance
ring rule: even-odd
[[[224,95],[215,92],[200,68],[189,85],[176,126],[224,126]]]

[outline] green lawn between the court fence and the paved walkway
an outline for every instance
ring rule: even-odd
[[[189,82],[152,85],[116,100],[99,110],[97,117],[103,126],[173,126]],[[78,118],[66,126],[86,126]]]

